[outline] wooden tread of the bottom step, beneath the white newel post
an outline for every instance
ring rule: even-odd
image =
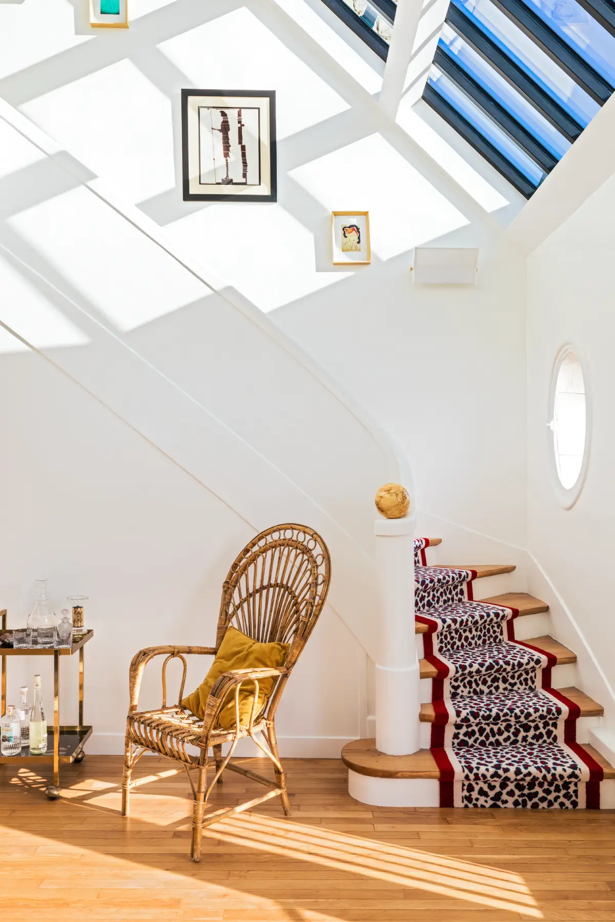
[[[615,768],[593,746],[582,747],[598,762],[605,778],[615,778]],[[430,750],[412,755],[384,755],[376,749],[375,739],[354,739],[342,749],[342,762],[358,774],[373,778],[439,778],[440,769]]]

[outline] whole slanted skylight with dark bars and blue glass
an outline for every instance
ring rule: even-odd
[[[386,60],[395,0],[324,2]],[[615,0],[451,0],[423,99],[529,197],[614,88]]]

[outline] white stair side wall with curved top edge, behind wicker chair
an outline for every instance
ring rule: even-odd
[[[246,538],[305,521],[332,551],[331,604],[279,729],[287,754],[337,754],[364,732],[372,497],[399,477],[393,450],[275,327],[267,336],[267,321],[212,291],[4,114],[21,129],[0,119],[9,624],[25,620],[41,568],[56,608],[76,583],[89,592],[93,746],[121,751],[138,646],[207,643]],[[23,679],[21,664],[12,686]]]

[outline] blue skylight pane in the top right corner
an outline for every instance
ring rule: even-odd
[[[576,0],[524,0],[574,51],[615,87],[615,37]]]

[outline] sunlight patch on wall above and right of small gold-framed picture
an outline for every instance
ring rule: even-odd
[[[312,160],[290,175],[327,211],[369,211],[372,254],[383,260],[468,223],[378,134]]]

